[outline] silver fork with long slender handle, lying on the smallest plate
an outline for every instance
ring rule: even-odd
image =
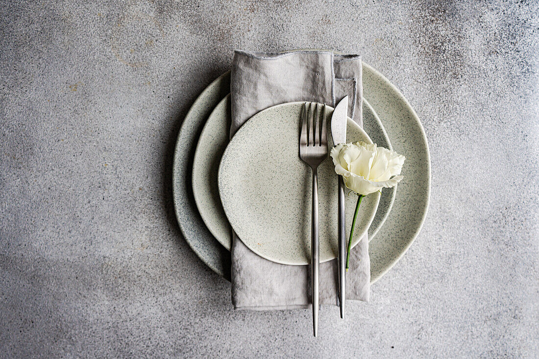
[[[323,106],[320,116],[319,105]],[[313,109],[314,107],[314,109]],[[322,119],[320,119],[322,117]],[[300,135],[300,158],[313,170],[313,209],[311,224],[311,280],[313,301],[313,334],[318,334],[318,309],[319,309],[319,269],[320,247],[318,240],[318,178],[317,169],[320,163],[328,158],[328,133],[326,123],[326,103],[305,102],[303,106],[301,135]]]

